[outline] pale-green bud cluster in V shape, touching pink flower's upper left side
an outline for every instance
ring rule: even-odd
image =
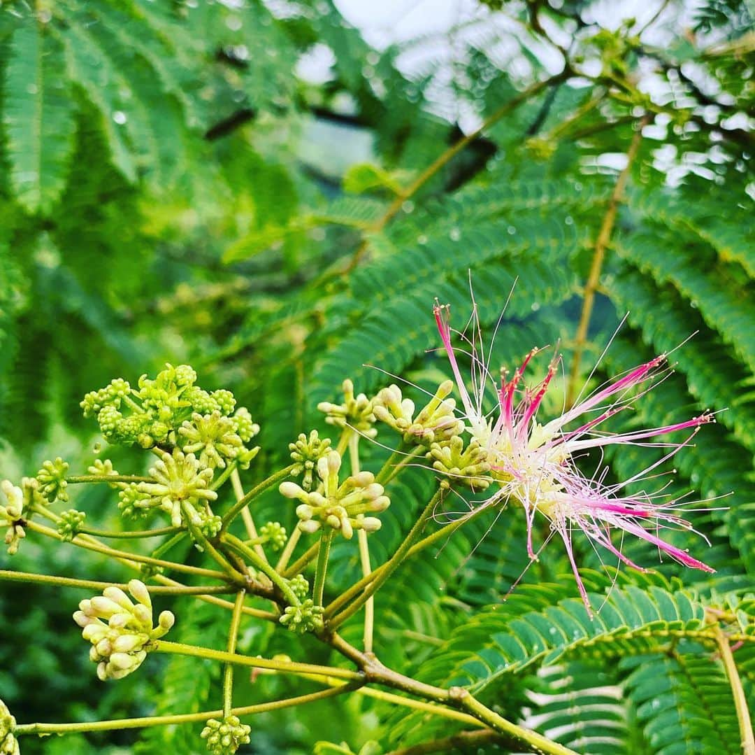
[[[415,417],[414,401],[403,398],[398,385],[389,385],[377,393],[374,415],[399,432],[406,443],[427,447],[443,443],[464,432],[464,422],[454,413],[456,403],[448,398],[453,387],[451,380],[442,382],[433,398]]]

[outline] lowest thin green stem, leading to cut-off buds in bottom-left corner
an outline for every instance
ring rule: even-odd
[[[231,713],[235,716],[252,716],[256,713],[267,713],[270,710],[282,710],[282,708],[304,705],[323,698],[332,698],[335,695],[343,695],[344,692],[352,692],[359,689],[362,681],[354,681],[350,684],[342,684],[338,687],[321,689],[310,692],[309,695],[298,695],[295,698],[275,700],[270,703],[258,703],[240,708],[232,708]],[[87,721],[85,723],[22,723],[14,727],[15,736],[25,734],[50,735],[50,734],[76,734],[83,732],[107,732],[112,729],[144,729],[147,726],[168,726],[179,723],[196,723],[207,721],[211,718],[219,718],[223,715],[222,710],[205,710],[202,713],[180,713],[176,716],[146,716],[143,718],[125,718],[113,721]]]

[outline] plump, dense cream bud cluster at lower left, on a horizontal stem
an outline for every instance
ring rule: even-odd
[[[103,590],[101,596],[82,600],[73,620],[82,627],[82,637],[91,642],[89,658],[97,664],[103,680],[128,676],[146,658],[150,643],[164,636],[175,623],[171,611],[162,611],[153,627],[152,600],[146,585],[139,580],[128,583],[131,602],[119,587]]]

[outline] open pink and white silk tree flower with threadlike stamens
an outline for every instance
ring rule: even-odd
[[[488,371],[489,354],[486,359],[479,321],[473,309],[470,320],[473,323],[472,338],[459,333],[464,342],[460,351],[470,357],[472,364],[470,395],[451,343],[448,305],[442,306],[436,302],[433,311],[461,395],[466,429],[473,439],[487,449],[491,475],[498,483],[498,491],[485,505],[513,501],[522,506],[527,521],[527,553],[530,559],[536,558],[532,547],[532,527],[535,515],[539,513],[550,520],[551,529],[562,538],[579,593],[588,611],[590,602],[572,548],[572,532],[577,530],[583,532],[595,546],[601,546],[620,562],[640,571],[646,570],[627,559],[620,547],[612,542],[613,530],[621,531],[622,538],[632,535],[646,540],[685,566],[714,571],[658,536],[661,528],[692,529],[688,521],[675,513],[680,505],[678,500],[666,500],[668,497],[662,490],[655,494],[643,492],[632,496],[621,492],[630,483],[647,478],[649,472],[689,444],[701,425],[714,421],[713,414],[706,412],[673,425],[632,432],[610,433],[600,429],[603,422],[630,408],[652,389],[655,379],[664,369],[664,354],[607,382],[566,409],[561,416],[541,425],[537,419],[538,410],[556,375],[559,357],[553,357],[546,376],[536,385],[525,385],[524,376],[530,360],[538,354],[537,348],[527,354],[510,379],[503,376],[500,382],[496,381]],[[491,384],[495,387],[498,404],[492,412],[485,412],[483,398]],[[637,388],[639,390],[635,390]],[[573,428],[573,425],[578,426]],[[681,443],[649,442],[650,438],[658,435],[685,429],[691,432]],[[667,453],[630,479],[612,485],[604,483],[606,468],[587,478],[575,463],[577,453],[622,444],[658,445],[667,448]]]

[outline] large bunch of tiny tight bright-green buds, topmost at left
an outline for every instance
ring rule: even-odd
[[[199,451],[203,466],[226,466],[229,459],[248,463],[258,449],[244,444],[259,432],[248,410],[239,407],[226,390],[205,391],[196,385],[196,372],[187,364],[165,370],[150,379],[140,377],[138,388],[124,379],[91,391],[81,403],[84,416],[96,416],[100,430],[112,444],[183,446]]]

